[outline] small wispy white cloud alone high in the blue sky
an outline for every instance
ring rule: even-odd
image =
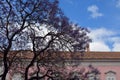
[[[91,5],[87,8],[89,12],[91,12],[91,17],[92,18],[97,18],[103,16],[102,13],[99,12],[99,8],[96,5]]]

